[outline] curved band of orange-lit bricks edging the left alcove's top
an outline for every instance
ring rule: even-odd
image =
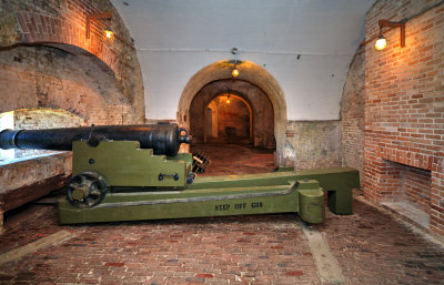
[[[23,33],[21,43],[57,45],[73,54],[81,53],[80,49],[82,49],[83,52],[95,55],[115,71],[118,61],[114,53],[103,44],[101,34],[98,34],[99,31],[93,28],[91,28],[90,39],[85,39],[85,24],[70,21],[67,17],[60,19],[36,12],[19,11],[17,19]],[[70,48],[71,45],[80,49]]]

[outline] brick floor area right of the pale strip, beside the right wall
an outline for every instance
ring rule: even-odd
[[[354,200],[354,214],[327,211],[316,227],[350,284],[444,284],[444,246],[393,215]]]

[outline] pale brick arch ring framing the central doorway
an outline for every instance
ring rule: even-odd
[[[190,106],[193,98],[206,84],[218,80],[232,79],[233,63],[229,60],[214,62],[198,71],[186,83],[179,100],[178,121],[184,128],[190,128]],[[274,138],[276,141],[275,160],[278,165],[284,165],[284,146],[286,142],[286,101],[278,81],[265,69],[254,62],[238,63],[239,80],[248,81],[262,89],[269,96],[274,111]]]

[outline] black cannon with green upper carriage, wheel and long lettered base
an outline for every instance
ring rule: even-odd
[[[209,161],[179,153],[190,142],[185,129],[170,123],[0,132],[1,149],[72,151],[72,179],[58,203],[61,224],[266,213],[324,221],[324,191],[316,180],[325,171],[303,179],[293,170],[198,177]],[[345,204],[347,214],[351,202],[337,185],[333,202]]]

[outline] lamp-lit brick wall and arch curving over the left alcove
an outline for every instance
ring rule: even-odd
[[[92,20],[87,39],[87,16],[110,11],[111,21]],[[10,50],[22,45],[47,45],[89,58],[110,79],[131,105],[134,122],[144,122],[142,71],[128,29],[110,1],[98,6],[89,0],[58,1],[33,4],[11,3],[2,11],[7,26],[1,30],[0,48]],[[110,26],[115,32],[113,43],[103,39]]]

